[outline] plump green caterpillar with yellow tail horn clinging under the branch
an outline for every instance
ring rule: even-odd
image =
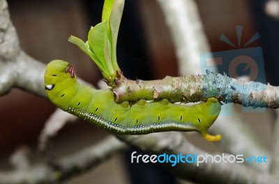
[[[193,106],[175,105],[168,100],[117,104],[110,89],[96,90],[78,83],[73,66],[61,60],[47,65],[45,91],[62,110],[120,135],[197,131],[209,141],[221,139],[221,135],[207,133],[220,113],[216,98]]]

